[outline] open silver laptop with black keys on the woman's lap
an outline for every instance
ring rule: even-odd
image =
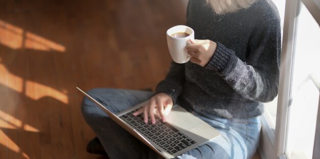
[[[132,115],[148,101],[115,114],[80,88],[77,87],[77,89],[97,104],[110,119],[164,158],[173,158],[220,135],[218,130],[179,105],[172,107],[169,115],[166,116],[165,123],[156,117],[156,123],[151,124],[151,122],[144,122],[143,115]]]

